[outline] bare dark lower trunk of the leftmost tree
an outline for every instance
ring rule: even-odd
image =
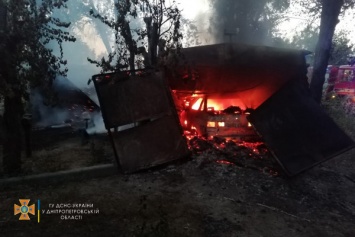
[[[22,150],[22,101],[19,93],[4,100],[3,167],[6,174],[21,172]]]

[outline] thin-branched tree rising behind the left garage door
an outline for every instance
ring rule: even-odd
[[[115,50],[108,58],[88,61],[101,67],[101,72],[117,71],[129,67],[157,67],[159,56],[181,48],[181,14],[175,1],[122,0],[115,1],[114,18],[94,10],[90,14],[110,27],[114,32]],[[159,50],[158,50],[159,49]]]

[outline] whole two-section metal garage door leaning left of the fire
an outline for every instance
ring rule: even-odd
[[[123,172],[146,169],[189,154],[170,90],[160,74],[111,73],[95,75],[93,80]],[[117,127],[127,124],[134,127],[118,131]]]

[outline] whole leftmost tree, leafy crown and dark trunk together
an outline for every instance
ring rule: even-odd
[[[70,23],[52,16],[67,0],[13,0],[4,3],[7,26],[0,33],[0,95],[4,99],[3,168],[10,175],[21,171],[24,101],[29,89],[48,88],[57,75],[66,75],[62,42],[75,41],[65,28]],[[59,46],[55,55],[50,46]]]

